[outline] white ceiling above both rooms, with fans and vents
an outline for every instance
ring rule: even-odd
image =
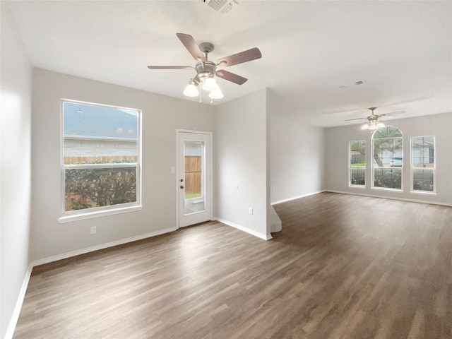
[[[183,32],[215,44],[214,61],[261,49],[262,59],[227,68],[249,81],[219,79],[219,104],[270,88],[278,113],[318,126],[356,124],[344,119],[372,106],[404,110],[399,118],[452,112],[452,1],[232,0],[225,14],[209,1],[11,1],[11,10],[42,69],[196,101],[182,95],[194,70],[146,67],[194,66]]]

